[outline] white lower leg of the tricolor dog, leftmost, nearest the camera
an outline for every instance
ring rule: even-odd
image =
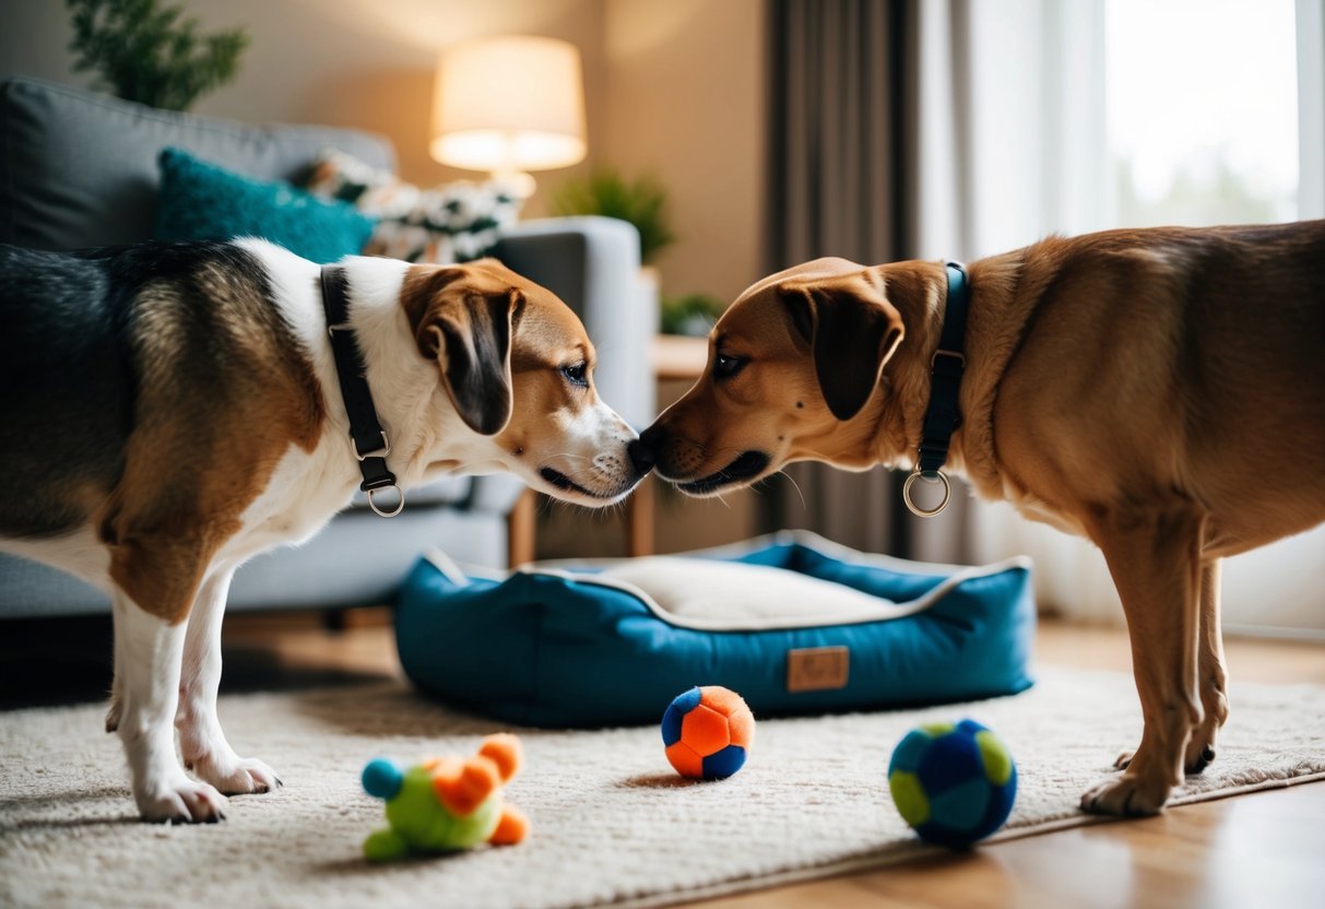
[[[132,774],[134,800],[147,820],[220,820],[225,796],[184,774],[175,757],[184,623],[144,611],[122,588],[114,592],[117,731]]]

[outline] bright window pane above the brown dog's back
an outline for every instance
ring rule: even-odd
[[[1298,216],[1293,0],[1106,0],[1109,221]]]

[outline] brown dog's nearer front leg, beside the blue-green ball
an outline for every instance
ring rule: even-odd
[[[1145,726],[1121,775],[1081,796],[1086,811],[1151,815],[1182,784],[1198,696],[1200,518],[1190,508],[1109,514],[1090,529],[1118,587]]]

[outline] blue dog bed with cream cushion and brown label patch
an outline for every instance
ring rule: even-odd
[[[803,531],[505,579],[433,554],[396,610],[420,689],[554,727],[657,722],[693,685],[739,692],[757,716],[1015,694],[1034,631],[1028,559],[933,566]]]

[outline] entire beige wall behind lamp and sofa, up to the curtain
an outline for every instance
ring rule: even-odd
[[[179,0],[175,0],[179,1]],[[183,0],[204,29],[252,36],[233,82],[196,113],[249,122],[376,130],[400,172],[432,184],[474,178],[428,156],[433,66],[454,41],[546,34],[584,61],[590,163],[656,171],[680,241],[659,262],[668,293],[729,299],[757,277],[762,140],[761,0]],[[60,0],[0,0],[0,78],[72,73]],[[527,211],[588,164],[539,176]]]

